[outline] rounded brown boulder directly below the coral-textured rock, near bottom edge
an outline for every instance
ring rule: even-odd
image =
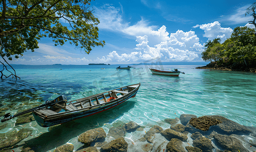
[[[206,137],[199,137],[193,140],[193,146],[200,148],[205,152],[212,152],[213,148],[211,140]]]

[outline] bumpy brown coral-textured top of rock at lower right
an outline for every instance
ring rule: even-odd
[[[207,131],[211,126],[220,124],[221,121],[215,118],[210,118],[210,117],[198,117],[198,118],[191,118],[189,121],[189,124],[192,125],[193,127]]]

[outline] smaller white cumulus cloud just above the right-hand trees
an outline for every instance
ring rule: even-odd
[[[223,28],[220,26],[220,23],[215,21],[213,23],[195,25],[193,28],[200,27],[205,31],[204,37],[208,37],[208,41],[212,41],[216,38],[220,38],[221,42],[224,42],[227,38],[229,38],[233,32],[233,29]]]

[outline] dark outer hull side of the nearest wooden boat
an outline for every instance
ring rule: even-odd
[[[104,105],[99,105],[99,106],[93,107],[92,109],[89,109],[89,110],[88,109],[79,109],[76,111],[64,112],[65,115],[63,115],[61,118],[42,119],[41,117],[39,117],[37,115],[37,113],[35,111],[33,111],[33,116],[34,116],[36,122],[38,123],[38,125],[41,127],[50,127],[50,126],[66,123],[69,121],[81,119],[84,117],[90,117],[97,113],[111,109],[111,108],[125,102],[129,98],[135,97],[135,95],[137,94],[138,88],[132,90],[131,93],[129,93],[121,98],[115,99],[110,102],[106,102]]]

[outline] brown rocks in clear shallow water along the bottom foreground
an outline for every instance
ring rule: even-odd
[[[123,123],[117,121],[106,133],[102,127],[87,130],[77,137],[82,146],[74,149],[74,145],[66,143],[55,148],[55,152],[72,151],[256,151],[256,128],[240,125],[222,116],[203,116],[182,114],[180,118],[165,119],[162,125],[140,126],[133,121]],[[162,126],[161,125],[161,126]],[[104,125],[105,127],[105,125]],[[49,130],[61,129],[61,125],[49,127]],[[30,136],[32,130],[21,129],[2,137],[1,151],[12,151],[19,141]],[[132,137],[130,136],[132,135]],[[33,147],[23,147],[22,152],[33,152]]]

